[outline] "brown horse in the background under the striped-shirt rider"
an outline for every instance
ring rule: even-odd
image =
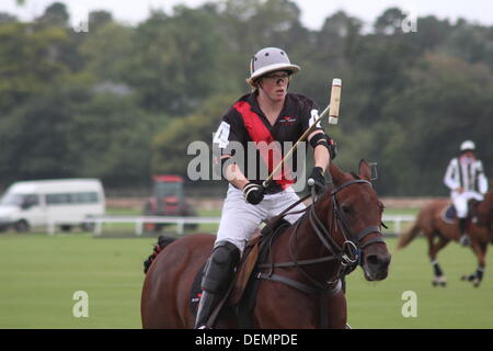
[[[438,251],[445,248],[451,240],[459,241],[460,231],[458,219],[448,222],[444,219],[444,212],[450,206],[450,201],[440,200],[423,207],[413,226],[399,237],[397,249],[408,246],[420,233],[428,240],[428,256],[434,269],[433,285],[446,286],[447,279],[438,263]],[[479,286],[483,279],[488,245],[493,239],[493,191],[490,191],[484,200],[477,204],[473,211],[474,219],[469,218],[466,231],[471,238],[471,248],[478,258],[478,269],[474,273],[463,275],[463,281],[472,282]]]

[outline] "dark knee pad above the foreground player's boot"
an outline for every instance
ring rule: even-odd
[[[229,241],[219,241],[207,261],[202,290],[220,294],[231,283],[234,269],[240,261],[240,250]]]

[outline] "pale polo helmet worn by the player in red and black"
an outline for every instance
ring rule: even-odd
[[[276,70],[287,70],[291,75],[300,71],[297,65],[291,65],[286,52],[277,47],[265,47],[257,52],[250,61],[250,77],[246,82],[254,87],[255,79]]]

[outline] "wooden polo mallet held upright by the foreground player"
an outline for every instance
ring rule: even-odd
[[[325,116],[325,114],[329,113],[329,123],[330,124],[337,124],[339,118],[339,107],[341,104],[341,87],[342,87],[342,80],[339,78],[334,78],[332,80],[332,91],[331,91],[331,99],[330,104],[325,107],[325,110],[322,111],[322,113],[317,117],[317,120],[310,125],[310,127],[300,136],[298,141],[290,148],[290,150],[285,155],[285,157],[280,160],[280,162],[276,166],[276,168],[272,171],[271,174],[268,174],[267,179],[264,180],[262,183],[262,186],[266,189],[268,186],[268,183],[273,180],[274,174],[277,173],[283,167],[284,162],[291,157],[293,152],[298,148],[298,145],[313,132],[313,129],[317,127],[317,124],[319,124],[320,121]],[[313,180],[311,180],[313,182]],[[313,185],[310,184],[309,185]]]

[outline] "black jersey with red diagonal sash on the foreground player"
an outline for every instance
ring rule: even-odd
[[[319,111],[311,99],[288,93],[280,114],[274,125],[271,125],[259,106],[256,94],[257,92],[252,92],[240,98],[226,112],[215,134],[214,143],[219,145],[221,155],[234,156],[237,165],[250,181],[262,184],[284,158],[285,152],[288,152],[287,146],[293,146],[299,139],[318,117]],[[320,124],[313,131],[317,129],[323,131]],[[240,143],[242,152],[239,154],[231,146],[234,144],[231,141]],[[290,144],[285,147],[286,141]],[[290,159],[291,170],[296,172],[301,165],[296,165],[296,154]],[[283,167],[283,170],[275,174],[266,192],[277,193],[294,182],[290,170]]]

